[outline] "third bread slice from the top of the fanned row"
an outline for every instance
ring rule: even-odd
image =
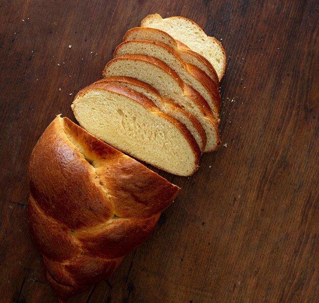
[[[179,54],[168,45],[149,40],[128,40],[122,42],[114,52],[114,57],[124,54],[142,54],[157,58],[173,69],[186,84],[197,90],[209,104],[214,117],[218,117],[220,94],[218,86],[199,68],[185,63]]]

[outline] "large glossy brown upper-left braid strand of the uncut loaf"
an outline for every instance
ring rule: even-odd
[[[75,230],[103,223],[112,215],[110,203],[105,200],[102,188],[96,186],[90,163],[76,149],[70,148],[63,124],[58,121],[56,118],[48,126],[31,154],[31,196],[47,216],[59,220],[65,228]],[[52,157],[57,150],[61,150],[61,155]],[[70,188],[77,188],[78,184],[83,184],[81,190],[72,192],[70,196]],[[54,208],[51,201],[55,201]],[[61,216],[61,213],[64,215]]]

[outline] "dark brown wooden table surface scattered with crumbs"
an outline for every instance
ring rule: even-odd
[[[221,137],[152,236],[69,302],[318,302],[318,12],[312,1],[0,4],[0,301],[57,302],[28,230],[26,166],[150,13],[222,41]],[[69,48],[71,45],[71,48]],[[227,147],[226,147],[227,145]]]

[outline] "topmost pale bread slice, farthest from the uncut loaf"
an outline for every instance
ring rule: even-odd
[[[171,35],[190,49],[204,56],[214,66],[221,80],[226,69],[226,54],[222,44],[214,37],[207,36],[194,21],[184,17],[163,19],[158,14],[146,16],[142,27],[153,27]]]

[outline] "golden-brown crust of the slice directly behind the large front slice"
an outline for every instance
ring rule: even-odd
[[[124,83],[124,84],[132,84],[138,87],[142,87],[146,90],[148,90],[149,92],[151,92],[152,94],[156,95],[157,98],[159,100],[161,100],[162,103],[166,104],[166,106],[170,106],[174,111],[179,111],[182,115],[187,116],[191,122],[193,123],[194,127],[197,129],[197,131],[199,132],[201,139],[203,141],[203,148],[205,148],[206,146],[206,141],[207,141],[207,137],[206,137],[206,133],[205,130],[203,129],[202,125],[199,123],[199,121],[191,114],[189,114],[188,112],[185,112],[181,106],[179,104],[177,104],[176,102],[174,102],[171,99],[162,97],[157,90],[155,90],[152,86],[148,85],[147,83],[140,81],[138,79],[132,78],[132,77],[126,77],[126,76],[111,76],[111,77],[107,77],[107,78],[103,78],[100,79],[96,82],[93,83],[93,85],[95,84],[99,84],[101,82],[115,82],[115,83]]]

